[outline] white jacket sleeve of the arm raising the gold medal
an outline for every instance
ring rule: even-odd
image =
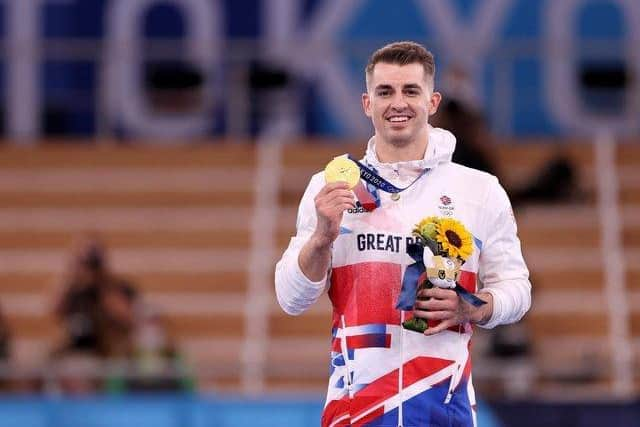
[[[328,275],[318,281],[309,280],[298,263],[300,250],[305,245],[316,227],[316,210],[314,197],[320,191],[322,183],[317,176],[311,179],[298,207],[296,235],[291,238],[289,246],[276,264],[275,283],[276,297],[280,307],[291,315],[298,315],[315,303],[327,287]]]

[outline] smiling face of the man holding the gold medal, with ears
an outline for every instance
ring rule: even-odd
[[[440,103],[440,94],[432,90],[422,64],[377,63],[368,92],[362,95],[362,106],[373,121],[376,137],[397,146],[422,137],[429,115]]]

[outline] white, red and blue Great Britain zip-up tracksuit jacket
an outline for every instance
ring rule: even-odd
[[[493,295],[493,315],[482,327],[515,322],[530,307],[529,272],[509,199],[494,176],[451,162],[454,148],[450,132],[430,128],[424,159],[385,164],[372,138],[364,162],[394,185],[406,187],[429,171],[397,201],[380,191],[379,208],[344,213],[331,269],[320,282],[305,277],[298,255],[315,229],[313,199],[325,185],[322,173],[302,197],[297,234],[276,266],[275,284],[280,306],[292,315],[328,290],[333,337],[323,426],[475,424],[470,325],[427,337],[403,329],[412,313],[395,308],[404,269],[413,262],[406,254],[411,230],[431,215],[455,218],[474,236],[459,282]]]

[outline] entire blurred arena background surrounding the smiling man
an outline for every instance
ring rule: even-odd
[[[315,423],[330,303],[285,315],[273,268],[309,177],[373,131],[368,56],[403,39],[531,269],[524,321],[474,336],[481,425],[634,425],[639,28],[632,0],[0,1],[0,426],[129,393],[106,408],[140,426]]]

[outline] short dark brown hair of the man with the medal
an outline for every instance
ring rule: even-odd
[[[379,62],[397,65],[422,64],[425,77],[433,87],[433,80],[436,75],[435,60],[433,59],[433,54],[419,43],[412,41],[394,42],[373,52],[365,68],[367,86],[373,74],[373,69]]]

